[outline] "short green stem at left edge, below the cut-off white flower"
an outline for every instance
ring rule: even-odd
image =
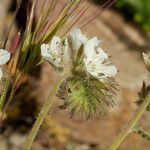
[[[5,99],[6,99],[6,95],[7,95],[8,89],[9,89],[9,85],[10,85],[10,80],[6,80],[4,91],[3,91],[3,93],[0,97],[0,112],[3,109],[3,105],[4,105],[4,102],[5,102]]]

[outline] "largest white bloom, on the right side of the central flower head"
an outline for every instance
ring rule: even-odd
[[[96,37],[87,41],[84,53],[87,72],[94,77],[101,79],[113,77],[117,74],[117,68],[114,65],[110,65],[108,55],[99,47],[99,41]]]

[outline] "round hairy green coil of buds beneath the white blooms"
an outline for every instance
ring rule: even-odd
[[[102,83],[83,72],[73,72],[58,92],[58,96],[64,99],[60,109],[68,109],[71,117],[78,115],[89,119],[95,114],[104,115],[107,108],[115,104],[112,94],[116,89],[110,83]]]

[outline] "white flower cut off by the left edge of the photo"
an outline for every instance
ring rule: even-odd
[[[10,60],[10,53],[4,49],[0,49],[0,66],[5,65]],[[0,79],[2,79],[3,73],[0,68]]]

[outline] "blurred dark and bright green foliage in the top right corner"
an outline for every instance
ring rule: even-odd
[[[150,0],[118,0],[116,7],[150,31]]]

